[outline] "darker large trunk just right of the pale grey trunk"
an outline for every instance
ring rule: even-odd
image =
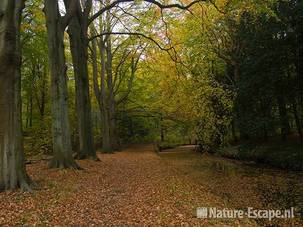
[[[81,6],[79,5],[77,16],[72,19],[68,29],[68,34],[70,37],[71,53],[76,81],[76,106],[80,140],[80,149],[77,158],[92,158],[97,160],[93,142],[94,140],[87,66],[87,19],[88,18],[81,14]]]

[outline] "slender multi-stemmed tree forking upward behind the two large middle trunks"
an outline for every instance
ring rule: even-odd
[[[110,37],[112,35],[111,19],[110,12],[107,12],[104,21],[100,19],[100,30],[103,30],[105,25],[104,29],[107,32],[94,37],[91,48],[94,92],[102,115],[102,150],[104,152],[119,149],[117,109],[127,100],[132,90],[138,62],[144,50],[144,47],[138,46],[137,40],[131,40],[129,37],[116,39],[113,46],[113,37]],[[92,30],[95,34],[95,28]],[[100,77],[98,77],[97,44],[101,62]],[[124,49],[124,51],[119,51],[119,49]]]

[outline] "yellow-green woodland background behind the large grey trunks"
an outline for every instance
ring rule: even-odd
[[[26,152],[51,153],[42,7],[41,1],[27,1],[24,11],[23,125]],[[89,29],[89,86],[97,144],[102,144],[102,128],[111,127],[102,121],[101,83],[114,96],[109,101],[113,104],[107,105],[115,106],[110,117],[117,144],[109,150],[123,143],[152,141],[165,146],[198,141],[202,149],[213,150],[232,141],[302,137],[300,1],[217,1],[196,4],[190,13],[136,3],[125,8],[128,13],[121,7],[108,11]],[[101,82],[99,49],[105,36],[111,42],[112,56],[105,63],[111,65],[111,73]],[[71,135],[77,150],[76,85],[67,34],[64,42]],[[105,52],[106,58],[109,52]]]

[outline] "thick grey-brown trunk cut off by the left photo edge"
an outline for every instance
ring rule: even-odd
[[[30,190],[21,121],[20,22],[24,2],[0,2],[0,190]]]

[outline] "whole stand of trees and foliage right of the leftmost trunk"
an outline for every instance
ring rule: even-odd
[[[302,1],[54,2],[22,12],[26,156],[197,143],[302,167]]]

